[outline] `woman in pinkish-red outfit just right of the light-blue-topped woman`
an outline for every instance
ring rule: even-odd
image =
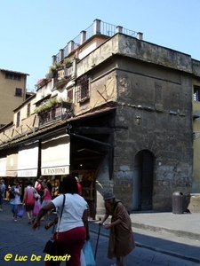
[[[28,215],[28,223],[31,223],[33,217],[33,209],[35,205],[35,188],[31,180],[28,180],[27,187],[24,190],[24,198],[22,204],[25,204],[25,209]]]

